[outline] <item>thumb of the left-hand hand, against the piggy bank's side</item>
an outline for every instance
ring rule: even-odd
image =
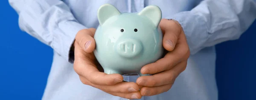
[[[96,43],[94,40],[94,34],[96,29],[83,29],[76,34],[76,42],[87,53],[93,52]]]

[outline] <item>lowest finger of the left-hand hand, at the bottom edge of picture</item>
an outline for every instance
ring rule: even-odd
[[[118,96],[126,99],[140,99],[141,93],[140,91],[132,92],[132,93],[117,93],[117,92],[109,92],[109,94],[112,94],[113,96]]]

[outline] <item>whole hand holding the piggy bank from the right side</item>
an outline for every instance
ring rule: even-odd
[[[177,21],[163,19],[160,28],[163,32],[163,47],[167,54],[141,69],[142,74],[153,74],[137,79],[136,83],[143,86],[140,89],[142,96],[157,95],[171,89],[176,77],[186,69],[190,55],[186,36]]]

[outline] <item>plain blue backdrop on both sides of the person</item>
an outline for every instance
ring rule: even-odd
[[[8,0],[0,9],[0,100],[41,100],[53,51],[20,31]],[[255,28],[256,22],[239,40],[216,46],[219,100],[256,100]]]

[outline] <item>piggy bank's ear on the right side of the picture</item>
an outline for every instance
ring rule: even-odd
[[[155,5],[146,6],[138,14],[148,17],[150,20],[152,20],[156,27],[158,27],[162,19],[162,11],[158,6]]]

